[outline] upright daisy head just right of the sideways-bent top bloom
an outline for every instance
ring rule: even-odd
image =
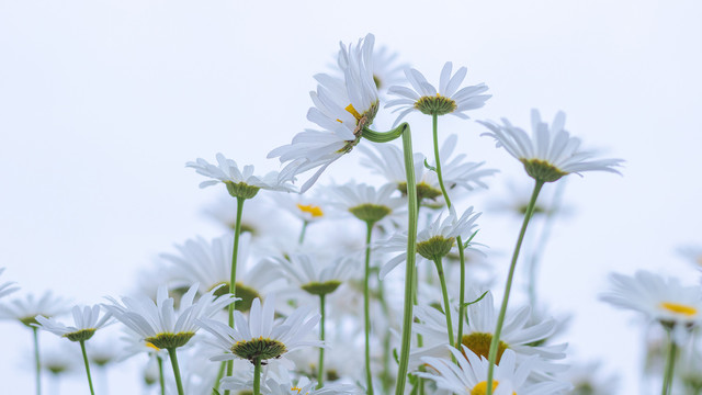
[[[460,119],[467,120],[468,116],[464,112],[479,109],[490,99],[491,94],[480,94],[487,91],[485,83],[465,87],[458,90],[461,83],[465,79],[467,69],[461,67],[455,75],[451,76],[453,64],[446,61],[441,69],[439,78],[439,90],[427,81],[424,76],[415,70],[406,69],[405,76],[412,89],[406,87],[390,87],[389,93],[400,97],[400,99],[390,100],[386,108],[397,106],[393,112],[400,112],[395,121],[395,125],[412,111],[419,111],[427,115],[446,115],[452,114]]]

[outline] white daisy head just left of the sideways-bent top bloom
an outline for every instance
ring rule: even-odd
[[[212,179],[201,182],[200,188],[224,182],[230,195],[242,199],[256,196],[261,189],[284,192],[297,191],[297,189],[290,183],[291,179],[281,178],[278,171],[271,171],[263,177],[253,176],[253,166],[251,165],[247,165],[242,170],[239,170],[237,162],[227,159],[224,155],[217,154],[216,158],[216,166],[202,158],[197,158],[194,162],[185,163],[185,167],[191,167],[195,169],[197,173]]]

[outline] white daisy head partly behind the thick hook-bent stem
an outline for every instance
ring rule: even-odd
[[[466,238],[471,236],[473,229],[477,226],[475,221],[480,216],[480,213],[473,212],[472,206],[460,218],[457,218],[453,208],[449,212],[450,214],[443,221],[441,221],[441,215],[438,215],[433,223],[417,234],[417,253],[422,258],[433,260],[437,257],[446,256],[454,247],[456,237]],[[380,276],[383,279],[400,262],[406,261],[407,232],[397,233],[388,240],[378,242],[377,246],[378,252],[405,251],[383,264],[380,272]]]

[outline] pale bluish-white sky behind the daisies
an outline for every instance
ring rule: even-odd
[[[310,126],[313,75],[328,70],[339,41],[371,32],[434,83],[444,61],[467,66],[467,83],[494,94],[474,119],[528,127],[530,109],[547,120],[563,110],[586,147],[626,160],[623,177],[569,178],[574,214],[554,228],[541,291],[576,312],[570,356],[601,358],[623,376],[619,393],[644,393],[634,315],[597,295],[610,271],[699,282],[676,248],[702,244],[700,20],[693,0],[0,0],[0,281],[99,303],[134,287],[139,268],[174,242],[217,236],[202,210],[222,191],[199,190],[185,161],[222,151],[278,169],[265,155]],[[416,150],[429,153],[429,120],[409,121]],[[382,115],[376,127],[390,122]],[[452,117],[441,127],[502,170],[494,192],[523,177],[479,125]],[[363,177],[358,159],[342,158],[330,177]],[[487,218],[483,241],[508,256],[517,229]],[[0,334],[2,386],[30,393],[30,331],[1,321]],[[87,393],[83,375],[69,388]]]

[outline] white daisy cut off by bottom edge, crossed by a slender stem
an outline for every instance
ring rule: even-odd
[[[433,380],[437,386],[454,394],[485,395],[487,391],[487,358],[476,356],[465,346],[462,351],[450,349],[456,365],[451,359],[424,357],[423,361],[430,372],[416,374]],[[492,376],[494,395],[556,395],[570,388],[567,383],[542,379],[537,382],[528,380],[533,377],[533,358],[517,363],[517,356],[512,350],[505,351],[502,360],[496,364]]]

